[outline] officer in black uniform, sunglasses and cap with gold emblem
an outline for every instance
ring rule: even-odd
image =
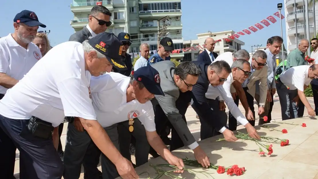
[[[126,70],[118,70],[114,69],[114,72],[121,73],[125,76],[129,76],[131,73],[131,70],[133,68],[133,64],[131,62],[131,56],[127,53],[129,46],[131,45],[130,40],[130,34],[126,32],[121,32],[118,34],[118,39],[122,42],[121,46],[121,55],[122,55],[122,61],[127,66]]]

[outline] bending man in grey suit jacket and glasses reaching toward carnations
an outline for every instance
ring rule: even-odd
[[[151,66],[159,72],[160,86],[164,93],[164,96],[155,95],[156,98],[151,101],[155,109],[157,133],[160,134],[160,130],[165,129],[167,122],[171,123],[170,151],[186,145],[193,150],[197,161],[203,167],[208,167],[209,158],[191,134],[184,116],[191,101],[191,98],[188,98],[191,95],[186,93],[191,93],[192,86],[197,83],[200,69],[188,61],[177,67],[169,60]]]

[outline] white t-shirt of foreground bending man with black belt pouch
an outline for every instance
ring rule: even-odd
[[[53,47],[0,101],[0,114],[11,119],[38,117],[58,126],[65,116],[96,120],[79,42]]]

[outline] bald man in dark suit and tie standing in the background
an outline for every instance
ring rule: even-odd
[[[211,37],[206,38],[204,45],[205,50],[198,55],[198,61],[212,63],[218,57],[218,54],[213,52],[215,46],[214,39]]]

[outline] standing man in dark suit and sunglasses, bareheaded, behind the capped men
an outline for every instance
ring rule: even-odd
[[[87,26],[71,35],[69,41],[82,43],[101,32],[105,32],[107,27],[112,24],[112,22],[110,22],[111,16],[112,13],[106,7],[102,5],[94,6],[89,14]],[[73,125],[73,117],[66,117],[66,119],[69,121],[69,126]],[[59,127],[63,127],[62,125],[63,123],[61,123]],[[99,163],[99,158],[100,150],[94,142],[91,142],[83,159],[84,179],[102,178],[101,172],[96,168]]]

